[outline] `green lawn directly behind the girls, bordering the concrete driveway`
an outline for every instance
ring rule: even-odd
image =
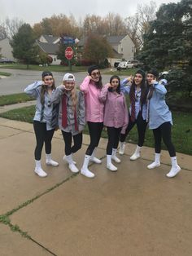
[[[27,121],[33,123],[33,116],[35,113],[35,106],[26,108],[18,108],[7,113],[0,114],[0,117],[5,117],[12,120]],[[173,126],[172,126],[172,142],[177,152],[192,155],[192,113],[172,112]],[[89,134],[87,126],[84,130],[85,134]],[[107,138],[106,130],[103,130],[102,136]],[[127,137],[127,142],[137,143],[137,128],[136,126],[131,130]],[[153,133],[151,130],[146,130],[146,140],[144,143],[147,147],[154,147]],[[166,149],[164,143],[162,148]]]

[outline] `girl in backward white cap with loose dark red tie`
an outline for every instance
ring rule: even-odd
[[[63,160],[67,161],[72,173],[77,173],[79,170],[72,155],[82,145],[82,131],[85,126],[85,99],[83,93],[76,90],[75,77],[72,73],[64,75],[63,84],[57,87],[51,102],[59,103],[59,129],[62,131],[65,142]]]

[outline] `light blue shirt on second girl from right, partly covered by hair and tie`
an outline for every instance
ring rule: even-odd
[[[128,85],[128,86],[125,86]],[[131,87],[131,83],[129,83],[127,78],[124,78],[124,80],[122,82],[120,82],[120,91],[124,93],[124,95],[129,95],[130,92],[130,87]],[[139,113],[139,111],[141,110],[142,107],[142,118],[143,120],[146,120],[146,104],[142,104],[141,106],[141,90],[139,92],[137,92],[137,90],[135,90],[135,114],[136,114],[136,118],[137,115]],[[129,106],[129,114],[131,113],[131,104]]]

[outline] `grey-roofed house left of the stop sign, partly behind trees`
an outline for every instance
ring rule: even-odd
[[[41,51],[49,55],[53,62],[51,64],[59,65],[61,60],[57,59],[57,51],[59,51],[59,37],[54,37],[52,35],[41,35],[37,40],[37,46]]]

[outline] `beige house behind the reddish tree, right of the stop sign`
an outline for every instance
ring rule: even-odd
[[[83,50],[87,38],[81,38],[78,47]],[[116,61],[120,60],[133,60],[135,46],[129,35],[122,36],[108,36],[107,42],[112,46],[113,57],[107,58],[111,67],[114,66]]]

